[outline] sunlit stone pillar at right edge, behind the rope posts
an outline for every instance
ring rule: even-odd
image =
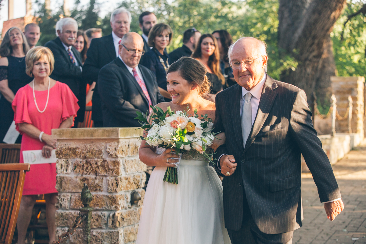
[[[363,115],[364,115],[364,83],[363,76],[358,77],[336,77],[330,78],[332,81],[333,94],[337,99],[337,111],[340,116],[344,116],[348,107],[348,95],[353,100],[352,109],[352,132],[360,135],[363,139]],[[336,132],[348,133],[348,119],[336,120]]]

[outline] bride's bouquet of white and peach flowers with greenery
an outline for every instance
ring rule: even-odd
[[[147,131],[145,140],[150,146],[161,148],[173,148],[180,154],[184,151],[196,150],[203,154],[208,161],[212,162],[212,154],[207,154],[206,149],[212,145],[215,134],[212,131],[212,119],[206,115],[198,117],[197,109],[194,115],[188,117],[187,112],[177,111],[176,113],[168,107],[167,111],[153,106],[153,114],[147,121],[147,116],[136,112],[142,129]],[[175,167],[168,167],[164,175],[164,181],[178,184],[178,164],[172,163]]]

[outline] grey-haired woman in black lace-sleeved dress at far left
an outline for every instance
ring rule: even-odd
[[[32,77],[25,72],[25,55],[29,50],[25,35],[18,27],[11,27],[0,45],[0,143],[3,143],[12,121],[14,111],[11,103],[20,87],[27,85]],[[15,143],[20,143],[19,135]]]

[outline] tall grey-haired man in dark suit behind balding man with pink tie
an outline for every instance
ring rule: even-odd
[[[94,38],[86,53],[86,60],[83,66],[83,77],[92,82],[97,82],[94,91],[98,90],[98,74],[100,69],[115,60],[118,56],[118,45],[123,35],[130,31],[131,13],[125,8],[117,8],[111,14],[112,33],[110,35]],[[93,93],[91,99],[91,119],[94,127],[103,127],[103,115],[98,92]]]

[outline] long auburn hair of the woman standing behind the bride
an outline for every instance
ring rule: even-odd
[[[217,40],[212,34],[203,34],[199,38],[198,44],[196,46],[196,49],[194,50],[192,57],[194,59],[200,59],[202,56],[202,49],[201,49],[201,43],[203,39],[206,37],[210,37],[215,45],[215,50],[213,54],[208,58],[208,67],[212,70],[213,74],[217,75],[219,79],[221,80],[221,84],[225,84],[225,78],[224,75],[220,71],[220,50],[217,46]]]

